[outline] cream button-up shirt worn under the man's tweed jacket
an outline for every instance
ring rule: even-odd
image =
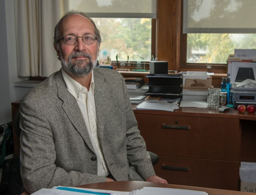
[[[84,118],[86,129],[88,131],[91,143],[97,156],[98,175],[108,176],[110,172],[102,154],[100,140],[98,137],[97,118],[94,101],[93,71],[91,74],[89,90],[86,87],[82,86],[80,83],[76,82],[73,78],[71,78],[62,68],[61,73],[67,85],[67,90],[74,96]]]

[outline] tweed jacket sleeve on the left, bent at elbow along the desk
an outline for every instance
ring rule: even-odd
[[[75,187],[106,181],[106,177],[77,171],[67,172],[56,166],[54,136],[47,120],[45,105],[23,101],[20,114],[20,172],[29,193],[58,185]]]

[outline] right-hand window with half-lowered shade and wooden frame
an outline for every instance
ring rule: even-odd
[[[254,0],[183,0],[183,69],[226,70],[234,49],[255,49]]]

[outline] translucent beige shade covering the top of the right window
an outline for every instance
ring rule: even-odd
[[[183,0],[183,33],[256,33],[256,0]]]

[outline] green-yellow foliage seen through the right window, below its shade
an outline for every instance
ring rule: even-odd
[[[188,34],[187,62],[226,64],[234,49],[254,49],[256,34]]]

